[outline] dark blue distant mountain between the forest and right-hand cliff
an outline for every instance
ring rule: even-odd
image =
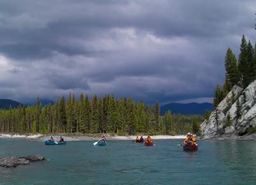
[[[161,107],[161,114],[171,110],[173,114],[204,114],[212,110],[212,103],[168,103]]]

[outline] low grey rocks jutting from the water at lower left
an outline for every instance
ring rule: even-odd
[[[38,154],[32,154],[25,157],[15,157],[8,156],[6,158],[0,159],[0,166],[5,168],[16,167],[19,165],[29,165],[30,162],[34,161],[44,161],[44,157]]]

